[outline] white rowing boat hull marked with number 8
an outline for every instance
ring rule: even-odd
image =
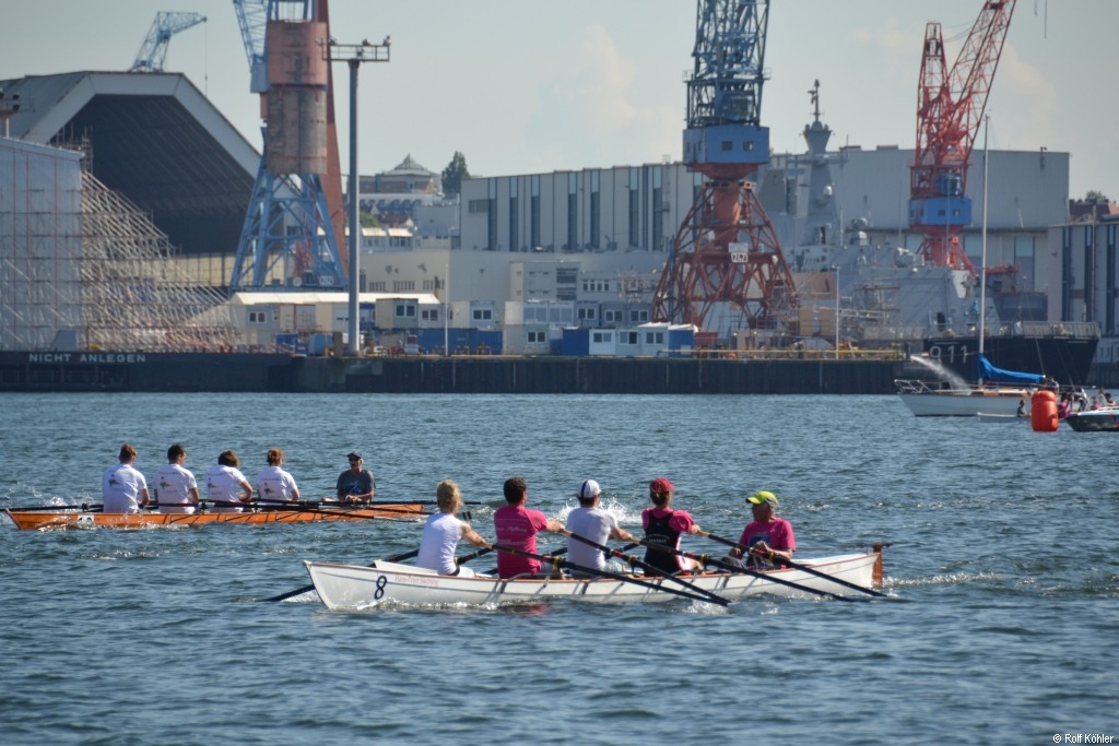
[[[836,595],[858,595],[850,587],[831,582],[840,578],[862,587],[881,583],[882,553],[868,551],[800,560],[821,573],[814,575],[797,568],[769,570],[797,585]],[[613,578],[542,578],[518,577],[502,580],[496,577],[458,577],[438,575],[411,565],[378,560],[372,566],[336,565],[304,561],[319,598],[330,610],[368,608],[396,602],[422,605],[489,605],[499,603],[539,602],[548,598],[575,598],[591,602],[673,601],[678,596],[659,586],[678,589],[674,580],[642,577],[653,588]],[[736,601],[756,594],[812,597],[801,591],[754,575],[741,573],[703,573],[683,576],[692,585]]]

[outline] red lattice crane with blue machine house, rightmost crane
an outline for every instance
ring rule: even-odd
[[[925,27],[916,101],[916,152],[910,177],[910,227],[921,254],[938,266],[975,267],[960,243],[971,224],[968,163],[991,81],[1003,54],[1015,0],[986,0],[952,69],[940,23]]]

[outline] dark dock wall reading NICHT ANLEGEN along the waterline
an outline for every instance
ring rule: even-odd
[[[0,391],[892,394],[890,360],[0,352]]]

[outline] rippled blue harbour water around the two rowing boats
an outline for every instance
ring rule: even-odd
[[[420,525],[6,521],[3,744],[1119,738],[1111,434],[916,419],[885,396],[0,395],[0,506],[100,501],[124,441],[149,480],[173,441],[199,475],[236,448],[250,479],[279,445],[308,498],[359,447],[386,499],[453,478],[492,500],[523,474],[562,517],[594,478],[636,530],[662,474],[715,533],[737,536],[742,498],[768,489],[801,558],[892,542],[892,598],[872,603],[329,613],[256,602],[307,584],[302,559],[412,549]]]

